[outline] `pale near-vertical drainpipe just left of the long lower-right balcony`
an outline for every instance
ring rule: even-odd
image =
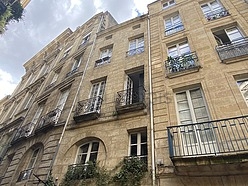
[[[147,15],[147,38],[148,38],[148,76],[149,76],[149,104],[151,124],[151,147],[152,147],[152,185],[156,185],[155,170],[155,143],[154,143],[154,121],[153,121],[153,94],[152,94],[152,65],[151,65],[151,40],[150,40],[150,15]]]

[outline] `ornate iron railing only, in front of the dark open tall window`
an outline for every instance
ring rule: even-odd
[[[145,100],[145,88],[139,86],[137,89],[130,88],[117,92],[116,106],[126,106],[135,103],[144,102]]]

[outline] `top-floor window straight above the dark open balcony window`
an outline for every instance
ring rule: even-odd
[[[133,39],[129,42],[129,50],[127,52],[128,56],[140,54],[142,52],[144,52],[144,37],[143,36]]]

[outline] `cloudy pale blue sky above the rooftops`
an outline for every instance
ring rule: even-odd
[[[23,20],[0,36],[0,99],[13,92],[23,64],[62,33],[75,30],[94,14],[109,11],[118,23],[147,12],[154,0],[31,0]]]

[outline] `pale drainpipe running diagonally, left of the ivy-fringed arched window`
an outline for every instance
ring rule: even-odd
[[[48,177],[49,177],[49,175],[50,175],[50,173],[51,173],[51,171],[52,171],[52,167],[53,167],[53,164],[54,164],[54,162],[55,162],[55,158],[56,158],[56,156],[57,156],[57,154],[58,154],[59,147],[60,147],[60,145],[61,145],[61,141],[62,141],[62,139],[63,139],[63,137],[64,137],[66,127],[67,127],[67,125],[68,125],[68,123],[69,123],[71,113],[72,113],[73,108],[74,108],[74,106],[75,106],[75,104],[76,104],[77,97],[78,97],[78,94],[79,94],[79,91],[80,91],[80,87],[81,87],[81,85],[82,85],[82,83],[83,83],[84,76],[85,76],[86,70],[87,70],[87,68],[88,68],[88,65],[89,65],[89,62],[90,62],[90,58],[91,58],[91,55],[92,55],[92,52],[93,52],[93,49],[94,49],[94,46],[95,46],[95,42],[96,42],[96,38],[97,38],[97,33],[100,31],[100,28],[101,28],[101,25],[102,25],[102,21],[103,21],[103,14],[101,15],[101,20],[100,20],[100,23],[99,23],[99,25],[98,25],[97,32],[96,32],[96,34],[95,34],[95,38],[94,38],[93,43],[92,43],[92,47],[91,47],[91,50],[90,50],[90,54],[89,54],[89,57],[88,57],[88,59],[87,59],[87,62],[86,62],[86,65],[85,65],[85,68],[84,68],[84,71],[83,71],[81,80],[80,80],[80,82],[79,82],[77,92],[76,92],[75,97],[74,97],[74,99],[73,99],[71,109],[70,109],[70,111],[69,111],[69,114],[68,114],[68,117],[67,117],[67,119],[66,119],[64,128],[63,128],[63,130],[62,130],[62,133],[61,133],[61,136],[60,136],[58,145],[57,145],[57,147],[56,147],[55,154],[54,154],[53,159],[52,159],[52,162],[51,162],[51,164],[50,164],[50,168],[49,168],[49,171],[48,171],[46,180],[48,180]]]

